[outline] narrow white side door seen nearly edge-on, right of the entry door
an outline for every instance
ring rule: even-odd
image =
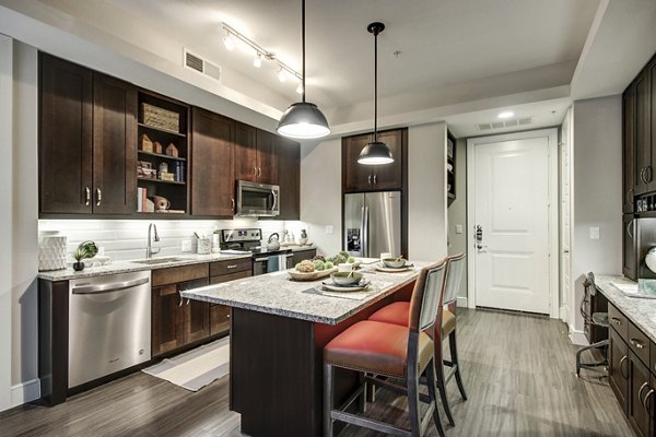
[[[562,140],[561,140],[561,319],[565,322],[570,321],[570,281],[572,264],[570,261],[571,251],[571,223],[572,223],[572,209],[571,209],[571,156],[572,156],[572,142],[571,139],[571,117],[572,109],[567,110],[565,119],[562,125]]]

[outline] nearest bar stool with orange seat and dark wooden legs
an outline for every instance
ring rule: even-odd
[[[433,329],[437,306],[435,303],[444,291],[446,262],[442,261],[422,269],[414,284],[410,300],[410,319],[407,327],[378,321],[360,321],[332,339],[324,347],[324,436],[332,437],[333,421],[350,423],[396,436],[422,436],[431,416],[440,436],[444,429],[436,406],[435,368],[433,342],[426,331]],[[339,408],[333,408],[335,367],[355,370],[364,383]],[[429,395],[419,392],[419,379],[425,374]],[[376,376],[400,378],[405,387],[394,385]],[[364,404],[366,385],[373,383],[408,397],[411,429],[395,427],[388,423],[348,413],[345,410],[356,399]],[[420,417],[420,403],[429,404]]]

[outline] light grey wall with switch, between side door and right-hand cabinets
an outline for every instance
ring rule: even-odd
[[[574,102],[573,247],[574,307],[583,274],[622,274],[622,101],[610,96]],[[599,227],[599,239],[589,228]],[[583,331],[576,312],[570,330]]]

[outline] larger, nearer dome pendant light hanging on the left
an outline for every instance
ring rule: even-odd
[[[305,0],[303,0],[303,88],[302,102],[294,103],[284,111],[278,123],[278,133],[296,139],[321,138],[330,133],[328,120],[314,103],[305,102]]]

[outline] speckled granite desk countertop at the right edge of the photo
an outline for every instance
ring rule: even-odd
[[[635,285],[624,276],[596,275],[595,283],[604,296],[656,343],[656,299],[630,297],[611,284]]]

